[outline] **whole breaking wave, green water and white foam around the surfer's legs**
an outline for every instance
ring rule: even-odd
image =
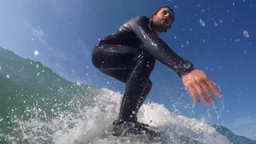
[[[256,143],[224,126],[172,114],[148,102],[138,121],[166,131],[146,140],[111,135],[122,94],[69,82],[40,62],[0,47],[0,142],[4,143]]]

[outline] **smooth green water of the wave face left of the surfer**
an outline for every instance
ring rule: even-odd
[[[0,47],[0,142],[20,137],[17,122],[38,118],[49,121],[62,114],[76,114],[92,104],[94,87],[61,78],[40,62],[20,58]]]

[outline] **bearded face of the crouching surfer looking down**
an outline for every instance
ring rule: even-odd
[[[167,30],[174,20],[174,13],[164,7],[158,11],[158,14],[154,15],[153,21],[157,26],[162,27],[162,29]]]

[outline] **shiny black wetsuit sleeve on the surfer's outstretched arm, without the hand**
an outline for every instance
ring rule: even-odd
[[[145,16],[138,16],[128,22],[130,29],[141,39],[146,52],[174,70],[179,77],[192,70],[194,65],[175,54],[166,42],[153,34],[148,24],[149,19]]]

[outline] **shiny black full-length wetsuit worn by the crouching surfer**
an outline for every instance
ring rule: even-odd
[[[191,62],[179,57],[166,42],[154,35],[152,27],[150,18],[138,16],[102,38],[94,47],[94,66],[126,83],[118,122],[136,121],[138,109],[152,87],[150,74],[156,60],[180,77],[193,68]]]

